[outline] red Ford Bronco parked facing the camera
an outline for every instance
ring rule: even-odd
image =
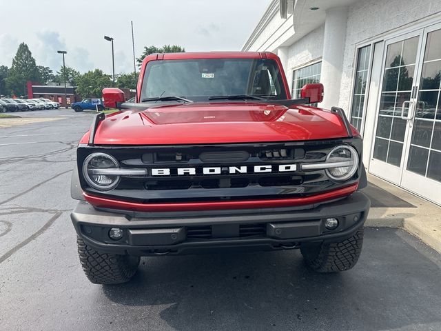
[[[340,108],[291,99],[269,52],[152,54],[134,103],[106,107],[77,149],[72,212],[92,283],[129,281],[141,256],[300,248],[317,272],[356,264],[370,201],[362,139]]]

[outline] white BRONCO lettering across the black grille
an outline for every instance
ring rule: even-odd
[[[240,165],[223,166],[223,167],[204,167],[204,168],[154,168],[152,169],[152,176],[170,176],[170,175],[190,175],[196,174],[249,174],[261,172],[294,172],[297,170],[296,164],[281,164],[281,165]]]

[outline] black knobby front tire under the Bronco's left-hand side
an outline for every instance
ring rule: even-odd
[[[97,252],[79,237],[76,243],[85,275],[94,284],[126,283],[138,269],[140,257]]]

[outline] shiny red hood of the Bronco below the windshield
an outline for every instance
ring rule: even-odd
[[[97,145],[167,145],[304,141],[347,137],[338,115],[308,106],[187,103],[111,114]],[[81,142],[88,139],[88,134]]]

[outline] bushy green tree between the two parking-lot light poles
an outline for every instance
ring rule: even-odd
[[[103,88],[112,86],[112,77],[103,70],[95,69],[81,74],[76,79],[76,93],[81,97],[101,97]]]

